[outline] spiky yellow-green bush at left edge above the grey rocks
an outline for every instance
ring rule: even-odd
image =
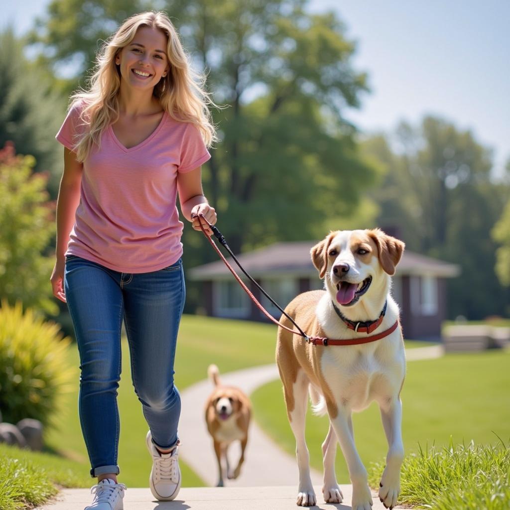
[[[35,418],[52,423],[62,392],[69,388],[69,368],[60,328],[45,322],[21,303],[0,308],[0,410],[4,421]]]

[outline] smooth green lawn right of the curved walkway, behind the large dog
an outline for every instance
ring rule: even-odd
[[[510,352],[449,354],[438,360],[407,363],[402,390],[403,440],[407,453],[418,450],[418,443],[496,444],[510,439]],[[252,395],[254,418],[289,453],[295,441],[290,429],[281,382],[274,381]],[[380,461],[387,443],[377,406],[353,417],[356,447],[366,466]],[[307,416],[307,443],[311,465],[322,471],[321,444],[328,428],[327,417]],[[337,476],[349,483],[342,454],[337,456]]]

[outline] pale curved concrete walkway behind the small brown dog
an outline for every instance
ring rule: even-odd
[[[406,350],[407,361],[439,358],[443,355],[442,346],[418,347]],[[241,388],[250,395],[258,387],[278,379],[275,364],[253,367],[225,374],[220,373],[224,385]],[[216,456],[212,439],[207,431],[204,418],[205,402],[213,391],[208,379],[190,386],[181,393],[183,402],[179,422],[179,436],[182,446],[179,453],[183,460],[210,486],[215,486],[217,479]],[[282,402],[283,405],[283,402]],[[316,445],[317,446],[317,445]],[[231,447],[231,464],[236,465],[239,458],[237,442]],[[294,486],[299,479],[295,457],[284,452],[252,420],[248,445],[245,452],[246,461],[237,480],[224,480],[230,487],[266,487]],[[322,484],[322,473],[312,471],[314,485]]]

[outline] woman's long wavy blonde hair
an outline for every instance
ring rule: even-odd
[[[109,124],[119,118],[120,71],[115,64],[119,51],[134,39],[140,27],[161,30],[168,38],[169,72],[154,87],[163,110],[175,120],[195,124],[208,147],[217,141],[216,129],[208,105],[217,106],[204,89],[205,75],[194,71],[179,35],[164,12],[144,12],[127,18],[97,54],[97,64],[88,90],[71,96],[71,108],[81,103],[80,121],[85,129],[75,140],[78,160],[84,161]],[[80,130],[81,131],[81,130]]]

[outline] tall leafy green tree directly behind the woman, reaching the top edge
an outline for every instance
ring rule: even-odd
[[[374,181],[374,168],[343,120],[359,105],[366,76],[336,14],[309,14],[304,0],[175,0],[174,18],[196,67],[208,73],[221,142],[205,188],[234,251],[273,240],[318,239]],[[38,40],[53,62],[89,67],[96,41],[140,2],[53,0]],[[96,15],[91,16],[91,13]],[[72,14],[72,16],[71,16]],[[100,14],[98,21],[97,14]],[[185,244],[201,245],[185,233]],[[195,261],[207,260],[201,252]]]

